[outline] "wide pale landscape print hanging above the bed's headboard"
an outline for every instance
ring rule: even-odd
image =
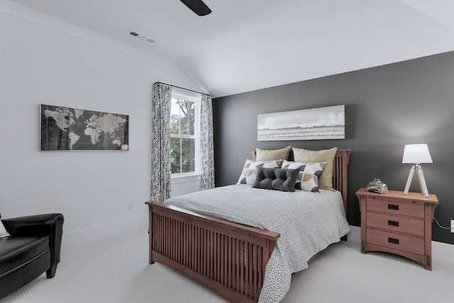
[[[258,141],[345,139],[345,105],[259,114]]]

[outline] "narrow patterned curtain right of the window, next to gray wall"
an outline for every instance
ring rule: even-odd
[[[200,114],[200,154],[201,154],[201,189],[214,187],[214,141],[213,141],[213,104],[211,97],[201,95]]]

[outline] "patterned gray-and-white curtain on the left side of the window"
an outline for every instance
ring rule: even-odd
[[[162,202],[170,198],[170,108],[172,87],[153,84],[153,122],[151,148],[150,199]]]

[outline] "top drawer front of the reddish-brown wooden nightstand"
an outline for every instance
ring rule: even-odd
[[[367,197],[367,211],[381,211],[387,214],[403,214],[424,218],[424,204],[417,202],[398,202],[391,199]]]

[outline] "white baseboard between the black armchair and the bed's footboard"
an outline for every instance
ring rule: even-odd
[[[143,215],[82,229],[80,231],[74,231],[72,233],[63,233],[62,250],[116,236],[120,233],[133,231],[147,225],[148,215]]]

